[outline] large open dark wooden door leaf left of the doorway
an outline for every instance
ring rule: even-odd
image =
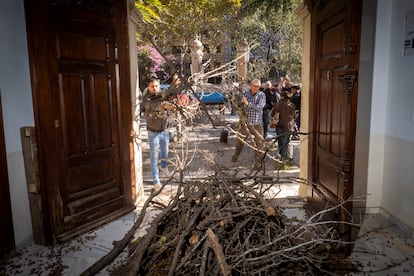
[[[26,10],[45,223],[66,240],[133,208],[126,1]]]

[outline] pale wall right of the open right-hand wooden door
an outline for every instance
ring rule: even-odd
[[[414,56],[403,56],[414,1],[378,0],[371,104],[368,207],[414,229]]]

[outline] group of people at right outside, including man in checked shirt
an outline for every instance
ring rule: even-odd
[[[283,77],[277,85],[273,85],[271,81],[261,83],[254,79],[240,97],[241,100],[233,98],[232,103],[243,103],[247,119],[240,116],[239,135],[232,161],[237,161],[250,134],[255,142],[255,168],[259,169],[263,145],[269,139],[272,128],[275,129],[280,158],[282,161],[287,160],[290,140],[299,139],[300,86],[290,82],[287,77]]]

